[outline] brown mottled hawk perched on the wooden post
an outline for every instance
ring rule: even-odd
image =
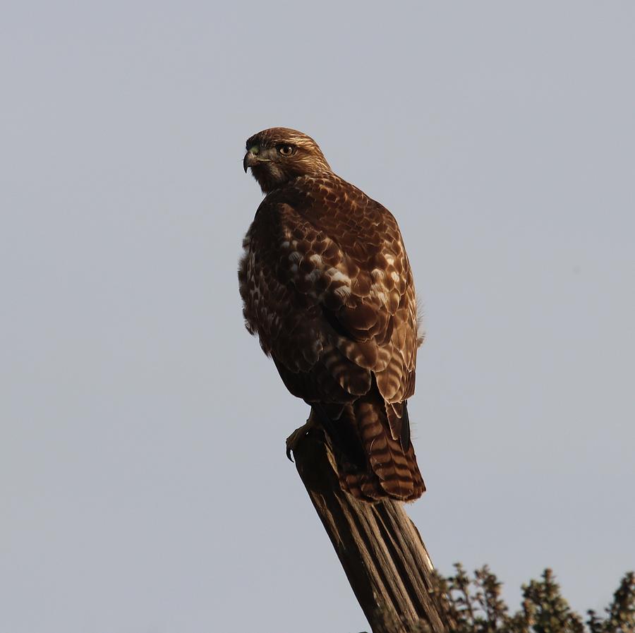
[[[238,270],[246,327],[311,406],[287,455],[321,426],[342,489],[368,502],[420,497],[407,400],[423,336],[397,221],[296,130],[253,135],[243,167],[265,194]]]

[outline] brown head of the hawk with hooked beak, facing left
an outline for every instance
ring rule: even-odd
[[[247,140],[245,173],[251,167],[263,193],[308,174],[331,171],[315,140],[289,128],[270,128]]]

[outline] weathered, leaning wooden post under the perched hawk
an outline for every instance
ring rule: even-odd
[[[339,487],[320,430],[294,449],[298,473],[337,552],[373,633],[446,633],[433,589],[433,565],[403,504],[365,503]]]

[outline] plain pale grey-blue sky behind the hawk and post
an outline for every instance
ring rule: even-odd
[[[635,6],[4,4],[0,630],[368,629],[243,329],[289,126],[397,216],[428,341],[409,408],[442,572],[580,610],[635,567]]]

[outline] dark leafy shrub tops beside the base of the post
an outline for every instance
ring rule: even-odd
[[[512,615],[500,596],[502,583],[487,566],[473,578],[460,564],[454,569],[447,578],[436,574],[432,591],[452,633],[635,633],[633,572],[622,578],[606,615],[588,611],[584,621],[560,594],[551,569],[522,587],[521,609]]]

